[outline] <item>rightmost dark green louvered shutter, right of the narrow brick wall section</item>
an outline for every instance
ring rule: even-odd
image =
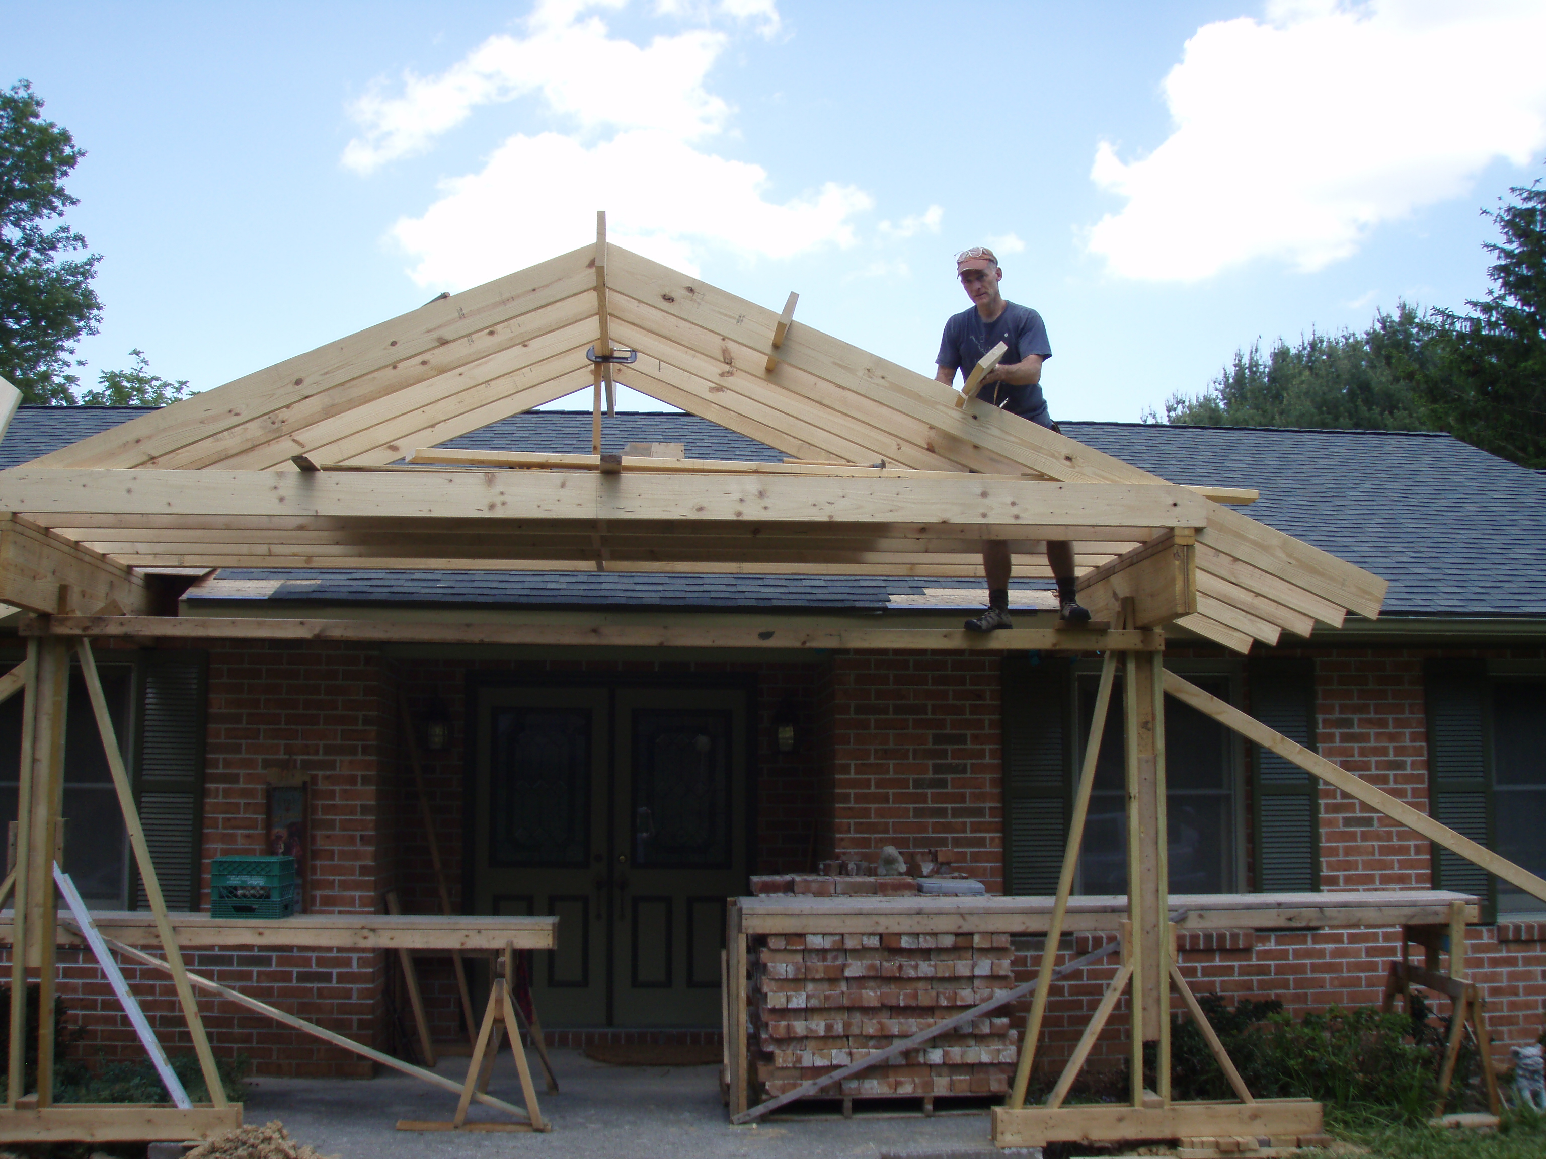
[[[1484,661],[1427,664],[1429,813],[1487,848],[1492,841],[1492,686]],[[1433,887],[1475,893],[1492,921],[1497,890],[1480,865],[1432,845]]]

